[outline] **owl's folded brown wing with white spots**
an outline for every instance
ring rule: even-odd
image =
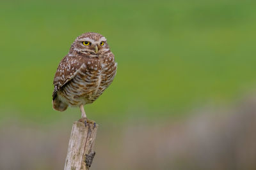
[[[79,60],[79,57],[66,56],[61,60],[53,80],[54,90],[52,92],[52,100],[55,99],[61,87],[74,78],[83,66],[84,64]]]

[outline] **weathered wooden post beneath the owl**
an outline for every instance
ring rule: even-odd
[[[64,170],[88,170],[95,155],[93,151],[99,125],[74,122],[68,143]]]

